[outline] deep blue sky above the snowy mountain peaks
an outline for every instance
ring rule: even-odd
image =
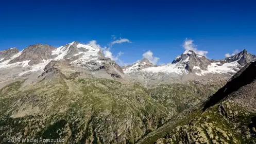
[[[236,49],[256,54],[256,9],[253,1],[3,1],[0,50],[36,43],[62,46],[114,39],[113,56],[132,63],[150,50],[158,64],[172,62],[193,40],[210,59]],[[193,45],[192,45],[193,46]],[[150,54],[150,53],[149,53]]]

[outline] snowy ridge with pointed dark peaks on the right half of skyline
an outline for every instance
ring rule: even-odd
[[[139,70],[133,70],[132,66],[130,66],[130,70],[125,72],[128,74],[143,73],[143,75],[145,75],[145,73],[165,73],[174,75],[195,74],[197,76],[212,74],[233,75],[243,66],[253,61],[256,61],[256,56],[251,55],[245,49],[223,60],[209,60],[205,56],[196,54],[192,50],[185,50],[180,56],[176,57],[172,63]],[[125,67],[124,69],[129,68]]]

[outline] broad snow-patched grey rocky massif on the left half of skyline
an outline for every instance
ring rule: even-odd
[[[30,45],[22,51],[12,48],[0,51],[0,58],[1,83],[21,77],[31,78],[31,74],[41,75],[45,66],[56,61],[68,62],[72,66],[70,71],[87,70],[91,74],[101,71],[98,75],[124,78],[123,69],[110,58],[104,57],[99,47],[78,42],[58,48],[46,44]],[[61,68],[67,70],[65,66]]]

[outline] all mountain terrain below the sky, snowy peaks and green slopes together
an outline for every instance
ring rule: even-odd
[[[97,45],[0,51],[0,140],[255,143],[256,56],[120,66]],[[12,142],[19,143],[19,142]]]

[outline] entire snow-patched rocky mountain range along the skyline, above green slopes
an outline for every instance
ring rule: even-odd
[[[7,76],[2,75],[2,81],[27,76],[31,73],[39,75],[43,73],[45,66],[51,61],[52,63],[53,61],[67,61],[66,63],[70,66],[90,71],[93,75],[95,71],[104,69],[106,74],[111,77],[126,79],[124,74],[135,74],[136,77],[138,75],[151,76],[156,74],[167,74],[168,77],[179,77],[188,74],[194,76],[233,75],[243,66],[255,60],[256,56],[251,55],[245,49],[223,60],[210,60],[205,56],[197,55],[192,50],[185,50],[172,63],[165,65],[153,65],[148,59],[143,59],[132,65],[120,67],[110,58],[104,57],[100,47],[78,42],[72,42],[57,48],[46,44],[35,44],[22,51],[17,48],[0,51],[0,69],[5,71],[12,69],[13,72]],[[143,79],[148,78],[144,77]],[[152,77],[149,77],[149,79],[152,79]]]

